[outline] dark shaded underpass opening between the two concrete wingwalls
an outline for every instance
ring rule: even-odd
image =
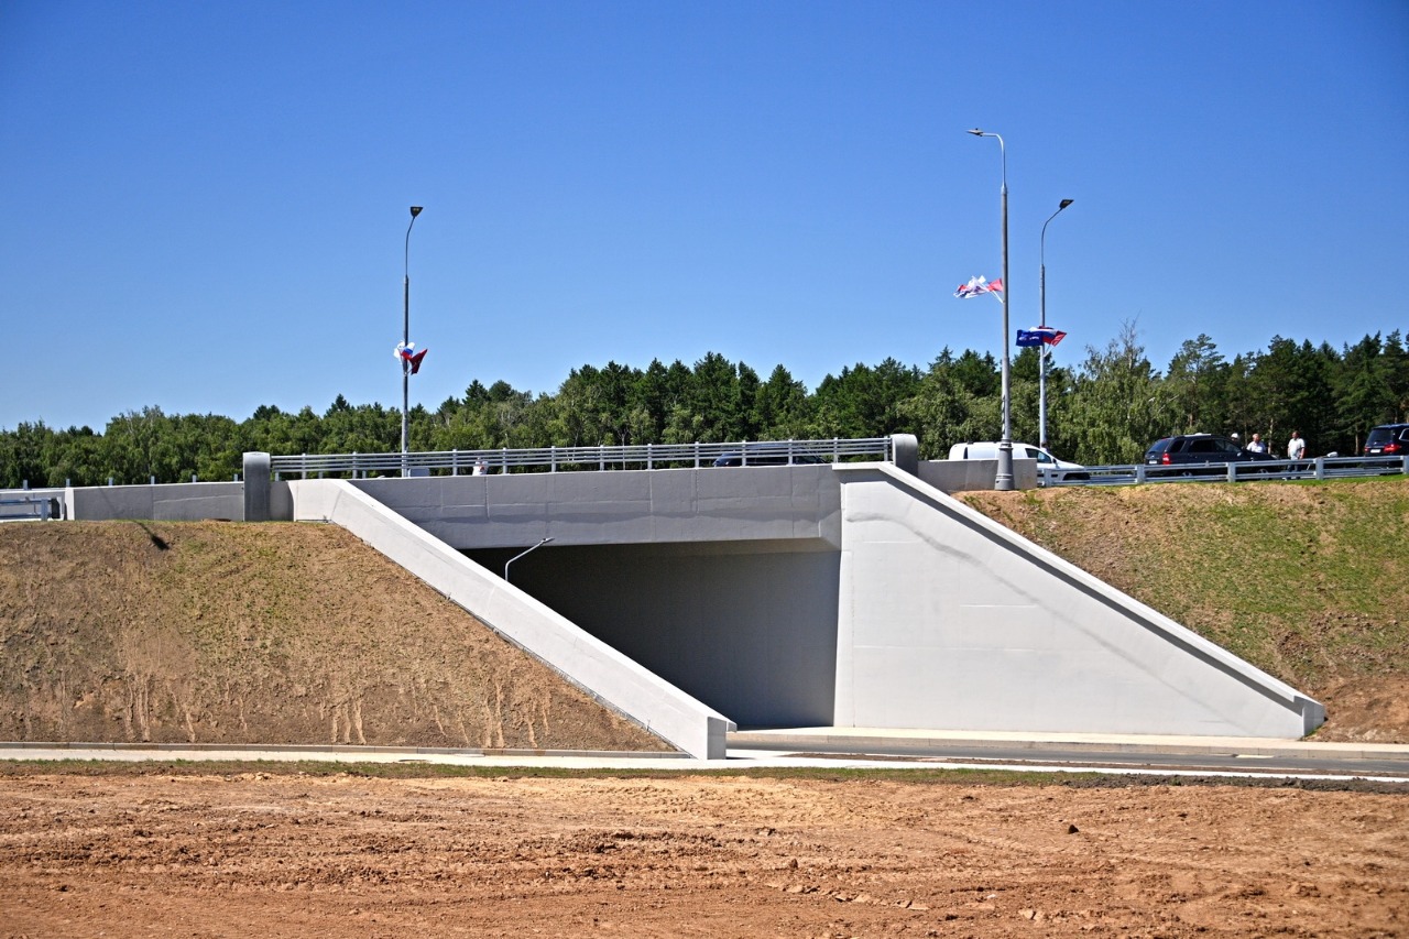
[[[468,550],[497,577],[521,548]],[[545,544],[510,581],[740,728],[830,726],[841,554],[823,540]]]

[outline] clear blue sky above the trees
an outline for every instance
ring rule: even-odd
[[[0,427],[1409,327],[1409,4],[0,3]]]

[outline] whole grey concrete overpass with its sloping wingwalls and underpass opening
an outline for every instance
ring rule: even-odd
[[[983,467],[913,448],[896,462],[299,481],[251,457],[238,493],[128,489],[170,491],[148,492],[141,517],[342,524],[695,756],[721,757],[737,726],[1295,739],[1324,720],[947,495]],[[114,510],[118,493],[85,492],[69,496],[77,517]],[[506,584],[504,563],[550,537]]]

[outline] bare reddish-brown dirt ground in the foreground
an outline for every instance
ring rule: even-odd
[[[1409,797],[0,775],[0,936],[1401,936]]]

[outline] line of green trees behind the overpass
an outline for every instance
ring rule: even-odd
[[[1038,352],[1012,360],[1013,438],[1037,443]],[[1047,374],[1051,450],[1088,465],[1138,461],[1172,433],[1255,433],[1275,451],[1298,430],[1312,454],[1360,453],[1375,424],[1409,420],[1409,352],[1394,331],[1340,350],[1274,337],[1231,360],[1208,336],[1185,341],[1161,371],[1134,324],[1072,367]],[[998,440],[1002,369],[992,354],[945,348],[927,368],[888,358],[827,375],[814,391],[783,367],[762,378],[744,362],[709,352],[633,368],[582,365],[555,393],[503,381],[471,381],[464,396],[410,413],[413,450],[727,443],[882,437],[912,433],[921,458],[944,458],[954,443]],[[218,415],[128,410],[90,427],[44,422],[0,430],[0,488],[232,479],[245,451],[395,453],[400,410],[351,405],[338,395],[321,415],[261,406],[242,422]]]

